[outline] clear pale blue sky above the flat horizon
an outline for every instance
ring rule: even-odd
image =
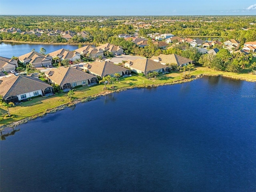
[[[256,0],[0,0],[1,15],[256,15]]]

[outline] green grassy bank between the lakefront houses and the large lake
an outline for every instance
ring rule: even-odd
[[[194,80],[194,78],[196,78],[198,75],[221,75],[230,78],[256,82],[256,75],[253,74],[221,72],[204,67],[197,67],[196,69],[192,70],[190,74],[192,75],[192,78],[188,80],[182,80],[180,72],[160,74],[157,78],[152,78],[151,80],[133,74],[131,77],[120,78],[120,82],[116,82],[114,84],[114,89],[110,88],[111,85],[107,85],[107,90],[103,90],[104,84],[76,88],[74,90],[74,100],[72,100],[71,102],[68,100],[66,93],[56,94],[55,96],[48,98],[34,98],[32,99],[32,101],[24,102],[20,106],[9,108],[13,118],[5,117],[7,112],[3,109],[0,109],[0,118],[4,118],[0,121],[0,127],[6,126],[13,122],[17,122],[19,120],[29,120],[30,118],[43,116],[46,113],[56,111],[55,108],[58,106],[60,107],[57,110],[66,108],[67,106],[82,102],[88,96],[100,96],[111,93],[113,91],[121,91],[135,87],[160,86],[166,84],[182,83]]]

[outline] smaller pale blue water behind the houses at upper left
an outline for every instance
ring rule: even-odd
[[[12,58],[12,56],[21,56],[31,52],[35,49],[36,52],[40,52],[40,48],[46,49],[46,54],[65,48],[68,50],[75,50],[78,45],[47,45],[47,44],[18,44],[18,43],[0,43],[0,56]]]

